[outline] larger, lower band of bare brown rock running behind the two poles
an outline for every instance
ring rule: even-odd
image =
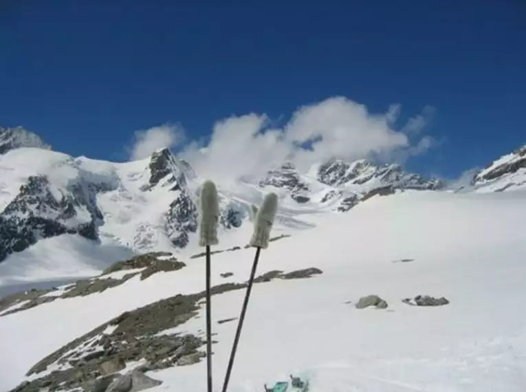
[[[286,274],[281,271],[269,272],[256,278],[255,282],[277,278],[300,279],[320,273],[317,268]],[[216,295],[245,287],[247,283],[224,283],[212,287],[211,292]],[[126,388],[133,388],[133,385],[138,384],[133,378],[130,381],[133,372],[144,373],[199,362],[204,357],[199,349],[205,341],[192,334],[173,334],[168,331],[197,316],[205,297],[205,291],[177,294],[124,312],[34,364],[27,373],[32,381],[24,382],[12,392],[80,388],[107,392],[111,385],[119,382]],[[221,321],[226,323],[230,320]],[[138,365],[127,375],[115,373],[130,362],[138,362]],[[54,370],[47,372],[51,367]]]

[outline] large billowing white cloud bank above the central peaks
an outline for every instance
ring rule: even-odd
[[[194,142],[181,155],[197,173],[217,181],[263,175],[285,161],[307,171],[312,164],[331,157],[355,160],[374,155],[390,160],[419,155],[432,146],[433,139],[410,139],[424,128],[430,110],[424,109],[415,117],[417,123],[397,131],[393,123],[400,105],[372,114],[347,98],[329,98],[300,107],[282,129],[272,129],[267,116],[254,113],[221,120],[208,144]]]

